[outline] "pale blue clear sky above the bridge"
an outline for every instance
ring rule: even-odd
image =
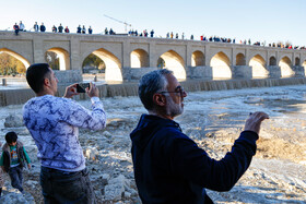
[[[173,32],[200,39],[219,36],[255,41],[306,46],[306,0],[0,0],[0,29],[12,29],[22,21],[25,29],[44,22],[54,25],[92,26],[94,34],[105,27],[116,33],[154,29],[155,37]]]

